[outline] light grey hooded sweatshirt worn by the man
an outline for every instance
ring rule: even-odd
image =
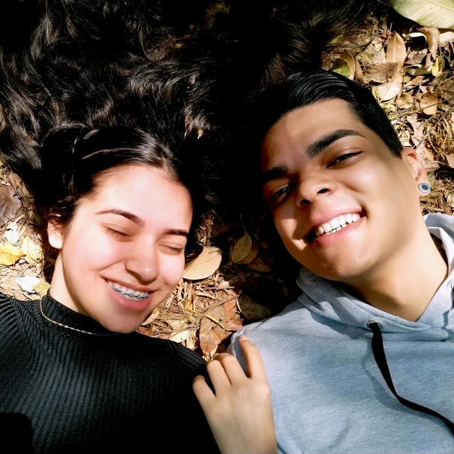
[[[372,355],[367,321],[381,324],[394,387],[454,422],[454,217],[429,214],[443,243],[448,278],[418,321],[387,314],[306,269],[303,293],[281,314],[237,336],[260,350],[272,390],[280,453],[454,453],[445,423],[400,404]]]

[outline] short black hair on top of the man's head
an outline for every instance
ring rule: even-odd
[[[318,69],[292,74],[258,96],[252,121],[257,122],[260,141],[285,114],[327,99],[348,102],[361,123],[377,133],[393,155],[402,156],[402,143],[369,89],[336,72]]]

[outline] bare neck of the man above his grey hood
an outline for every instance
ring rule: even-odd
[[[418,320],[448,275],[445,260],[424,228],[378,269],[341,287],[377,309]]]

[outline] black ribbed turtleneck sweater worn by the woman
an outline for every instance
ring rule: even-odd
[[[204,360],[172,341],[113,335],[49,295],[0,294],[0,443],[14,452],[217,452],[192,392]],[[33,446],[33,448],[31,448]],[[3,450],[3,448],[1,449]],[[13,452],[13,451],[11,451]]]

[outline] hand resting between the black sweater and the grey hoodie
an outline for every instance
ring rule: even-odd
[[[192,387],[222,454],[275,454],[265,367],[253,343],[243,334],[239,341],[249,377],[234,356],[221,353],[206,365],[215,393],[201,375],[195,377]]]

